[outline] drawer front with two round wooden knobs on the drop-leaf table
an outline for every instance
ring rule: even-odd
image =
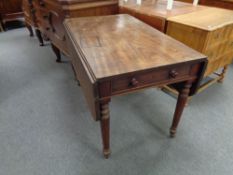
[[[112,80],[112,93],[140,89],[146,86],[158,85],[158,83],[177,82],[190,76],[191,65],[181,65],[176,68],[161,68],[143,74],[122,77]],[[172,80],[172,81],[171,81]]]

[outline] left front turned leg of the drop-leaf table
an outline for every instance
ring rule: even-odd
[[[102,102],[100,104],[100,127],[102,134],[102,142],[103,142],[103,155],[107,159],[111,153],[110,151],[110,115],[109,115],[109,101]]]

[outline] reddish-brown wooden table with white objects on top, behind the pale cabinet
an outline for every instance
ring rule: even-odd
[[[167,19],[194,11],[202,10],[205,7],[194,7],[190,3],[174,1],[173,9],[167,10],[167,0],[143,0],[141,5],[137,0],[120,1],[120,13],[130,14],[152,27],[166,33]]]

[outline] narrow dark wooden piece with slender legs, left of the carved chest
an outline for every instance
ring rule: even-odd
[[[44,45],[43,38],[41,36],[41,32],[38,28],[38,21],[35,15],[36,9],[32,4],[33,0],[23,0],[22,9],[25,18],[25,25],[30,32],[30,36],[33,36],[33,28],[35,28],[36,36],[40,42],[40,46]]]

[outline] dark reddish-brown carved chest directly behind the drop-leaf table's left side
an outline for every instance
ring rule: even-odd
[[[61,61],[61,53],[69,55],[63,21],[65,18],[109,15],[118,13],[118,0],[34,0],[38,29],[49,39]]]

